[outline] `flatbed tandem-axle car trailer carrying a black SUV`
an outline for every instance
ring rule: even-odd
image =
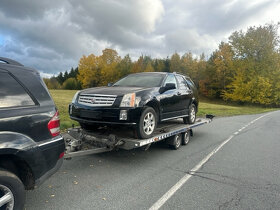
[[[70,128],[63,133],[65,140],[65,159],[72,157],[109,152],[116,149],[131,150],[135,148],[149,149],[152,143],[166,141],[172,149],[178,149],[181,144],[186,145],[193,128],[210,123],[213,115],[198,118],[194,124],[183,124],[182,120],[162,122],[158,125],[153,137],[148,139],[135,138],[133,128],[129,127],[100,127],[94,131],[80,127]]]

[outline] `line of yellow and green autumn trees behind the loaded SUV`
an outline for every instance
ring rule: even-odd
[[[45,79],[49,88],[80,89],[104,86],[137,72],[178,72],[196,83],[201,95],[239,103],[280,105],[279,24],[235,31],[206,59],[187,52],[170,58],[129,55],[104,49],[102,55],[83,56],[76,69]],[[55,84],[55,85],[54,85]]]

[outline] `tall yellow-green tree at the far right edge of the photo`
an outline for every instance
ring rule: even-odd
[[[238,31],[230,36],[236,71],[224,91],[225,100],[279,104],[277,29],[278,25],[270,24],[250,27],[246,32]]]

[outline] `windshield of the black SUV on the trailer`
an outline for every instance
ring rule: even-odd
[[[165,74],[131,74],[113,86],[122,87],[160,87]]]

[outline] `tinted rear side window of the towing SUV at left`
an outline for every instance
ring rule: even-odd
[[[0,108],[35,105],[23,87],[8,73],[0,72]]]

